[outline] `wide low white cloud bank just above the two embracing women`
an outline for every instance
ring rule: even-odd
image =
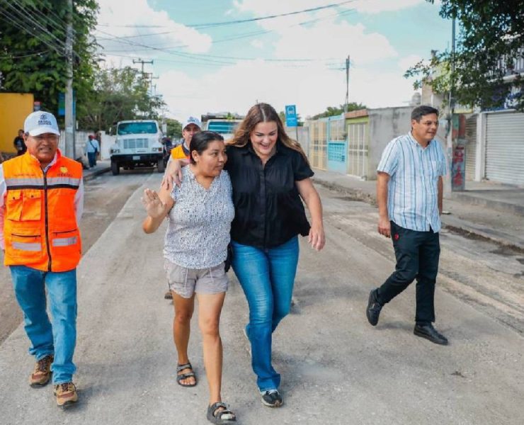
[[[371,108],[407,104],[413,89],[401,74],[374,67],[355,69],[350,77],[350,101]],[[297,112],[306,117],[324,111],[327,106],[340,105],[346,95],[343,71],[312,64],[304,72],[304,68],[263,60],[239,62],[199,79],[183,72],[167,72],[160,76],[158,86],[164,100],[171,105],[174,118],[179,120],[205,112],[245,114],[256,101],[268,102],[277,111],[295,103]]]

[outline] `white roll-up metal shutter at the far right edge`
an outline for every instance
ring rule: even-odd
[[[524,184],[524,113],[489,113],[486,118],[486,179]]]

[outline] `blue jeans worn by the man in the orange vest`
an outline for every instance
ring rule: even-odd
[[[76,268],[71,271],[40,271],[10,266],[16,300],[23,311],[25,333],[31,342],[29,353],[36,360],[55,355],[53,384],[71,382],[76,344]],[[45,288],[52,322],[46,311]]]

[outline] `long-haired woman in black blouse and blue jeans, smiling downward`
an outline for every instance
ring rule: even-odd
[[[275,109],[257,103],[227,145],[225,169],[233,186],[232,267],[249,304],[245,333],[262,402],[283,403],[271,364],[271,335],[290,311],[298,263],[297,235],[324,247],[322,205],[300,145],[285,133]],[[175,162],[176,163],[176,162]],[[178,175],[180,163],[171,172]],[[302,200],[309,209],[307,221]]]

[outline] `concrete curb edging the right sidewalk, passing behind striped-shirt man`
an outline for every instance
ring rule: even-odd
[[[324,186],[325,188],[351,196],[353,200],[360,200],[371,205],[377,205],[377,200],[374,194],[362,191],[360,189],[348,188],[338,183],[333,183],[331,181],[326,181],[323,179],[313,178],[313,181],[314,183],[319,183],[321,186]],[[524,244],[518,241],[508,239],[507,235],[496,232],[496,230],[478,229],[473,225],[469,225],[463,222],[457,217],[448,218],[448,216],[444,215],[443,217],[441,217],[441,220],[443,227],[445,227],[445,229],[449,230],[450,232],[461,234],[462,236],[468,237],[470,239],[488,240],[490,242],[494,242],[499,246],[503,246],[504,248],[512,249],[513,251],[516,251],[520,254],[524,253]],[[449,223],[448,220],[452,221],[452,223]]]

